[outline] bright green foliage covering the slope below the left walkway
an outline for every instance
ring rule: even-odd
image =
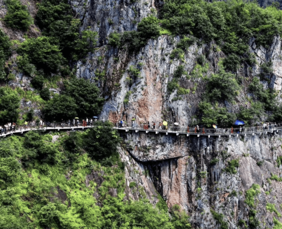
[[[51,134],[40,132],[0,139],[0,228],[191,228],[184,212],[169,215],[166,207],[153,207],[141,196],[139,201],[124,200],[122,163],[117,158],[114,166],[101,166],[88,156],[95,148],[85,148],[84,139],[95,133],[112,144],[100,159],[116,152],[117,132],[108,124],[103,130],[101,124],[85,132],[60,133],[55,142]],[[95,146],[100,148],[98,141]],[[91,172],[100,174],[101,184],[86,181]],[[109,195],[110,189],[117,190],[116,197]]]

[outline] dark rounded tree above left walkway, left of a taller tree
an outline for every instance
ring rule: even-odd
[[[77,116],[75,99],[68,95],[54,95],[41,112],[47,121],[73,119]]]

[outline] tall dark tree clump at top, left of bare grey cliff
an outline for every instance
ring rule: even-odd
[[[68,60],[83,58],[96,46],[97,32],[83,30],[80,33],[80,19],[74,19],[67,0],[43,0],[38,3],[36,24]]]

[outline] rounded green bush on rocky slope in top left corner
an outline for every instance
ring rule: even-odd
[[[4,17],[6,25],[11,28],[27,31],[29,26],[33,23],[27,6],[22,5],[19,0],[6,0],[5,4],[8,8],[7,14]]]

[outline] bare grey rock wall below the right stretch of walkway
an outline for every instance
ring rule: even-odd
[[[230,228],[237,228],[240,219],[248,222],[250,207],[245,200],[252,184],[260,186],[255,217],[261,228],[271,228],[273,216],[277,218],[266,210],[267,203],[282,212],[282,184],[270,179],[281,177],[282,167],[276,162],[282,156],[281,132],[230,138],[139,132],[122,136],[130,154],[149,170],[168,206],[178,204],[188,212],[195,228],[216,227],[211,210],[222,213]],[[212,163],[213,159],[218,161]],[[239,167],[230,174],[226,168],[234,159],[239,160]]]

